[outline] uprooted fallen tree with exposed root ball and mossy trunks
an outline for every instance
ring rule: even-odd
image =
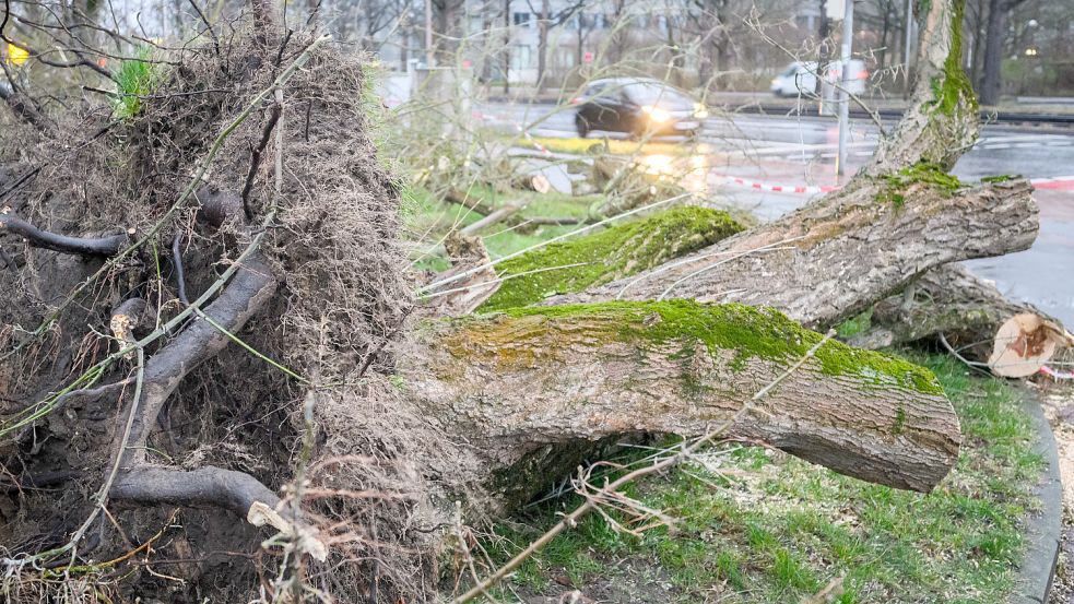
[[[186,583],[143,573],[150,559],[103,589],[237,601],[260,575],[273,597],[314,582],[350,600],[433,600],[438,555],[459,523],[510,511],[601,442],[696,437],[737,417],[821,342],[795,321],[830,323],[933,267],[1019,249],[1036,230],[1024,182],[964,189],[943,173],[972,138],[976,111],[957,60],[947,64],[958,11],[935,1],[923,15],[919,110],[843,192],[727,239],[695,234],[710,245],[673,247],[693,250],[686,262],[626,254],[609,272],[629,281],[593,287],[598,275],[571,294],[602,304],[413,316],[399,196],[354,127],[364,123],[362,67],[282,34],[265,3],[253,10],[252,35],[192,50],[141,112],[105,125],[108,135],[72,127],[72,144],[19,107],[4,114],[14,122],[4,133],[33,130],[44,142],[2,158],[11,174],[39,173],[11,196],[35,225],[22,233],[42,234],[16,240],[14,270],[0,274],[3,465],[27,485],[62,481],[4,495],[3,509],[22,516],[4,528],[0,564],[9,581],[32,585],[26,600],[56,589],[40,565],[116,578],[92,560],[129,559],[130,534],[160,531],[170,541],[156,555],[185,560]],[[59,145],[81,151],[58,163]],[[217,191],[196,192],[206,179]],[[63,249],[52,251],[45,244],[60,233]],[[132,242],[88,245],[101,233],[133,233]],[[487,275],[489,264],[418,293]],[[659,299],[722,300],[729,286],[747,287],[735,300],[790,320]],[[190,301],[184,291],[201,294]],[[127,316],[119,309],[141,306],[135,298],[155,327],[142,334],[131,316],[101,335]],[[924,492],[960,438],[929,371],[838,343],[730,434]],[[182,507],[182,522],[165,504]],[[235,521],[244,511],[295,529],[269,522],[280,532],[265,541]],[[279,557],[258,549],[262,541]],[[312,543],[328,546],[326,565],[305,556],[318,559]],[[220,552],[234,566],[214,562]]]

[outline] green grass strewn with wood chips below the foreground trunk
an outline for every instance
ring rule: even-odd
[[[799,602],[841,576],[841,604],[1004,602],[1042,463],[1029,419],[1018,392],[1000,380],[971,377],[948,357],[910,360],[935,371],[963,425],[958,462],[932,494],[729,446],[709,453],[716,472],[683,466],[628,488],[675,518],[674,531],[635,537],[589,517],[496,595],[510,602],[567,584],[613,602]],[[485,547],[503,562],[576,505],[540,506],[520,523],[496,526]],[[616,595],[622,585],[634,595]]]

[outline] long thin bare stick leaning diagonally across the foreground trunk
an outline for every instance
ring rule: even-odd
[[[754,394],[750,399],[750,401],[746,402],[746,404],[742,405],[742,408],[740,408],[731,418],[729,418],[723,424],[717,426],[715,429],[710,430],[708,434],[698,438],[697,440],[695,440],[689,445],[686,445],[686,442],[684,441],[681,445],[682,449],[674,455],[664,458],[658,461],[657,463],[653,463],[652,465],[639,467],[633,472],[624,474],[623,476],[616,478],[615,481],[609,483],[606,486],[598,490],[603,492],[604,494],[615,494],[615,492],[618,490],[621,487],[642,476],[648,476],[649,474],[663,472],[664,470],[669,470],[670,467],[677,465],[678,463],[682,463],[683,461],[692,457],[695,452],[697,452],[701,447],[713,441],[717,437],[723,434],[728,428],[733,426],[739,419],[742,419],[743,417],[746,416],[746,414],[751,413],[760,400],[767,396],[768,393],[771,392],[771,390],[777,386],[779,386],[783,380],[786,380],[792,374],[798,371],[803,365],[805,365],[806,360],[813,358],[816,352],[821,350],[821,347],[824,346],[829,340],[835,337],[835,335],[836,335],[835,330],[828,331],[828,333],[826,333],[824,337],[821,339],[819,342],[814,344],[813,347],[811,347],[804,355],[802,355],[802,357],[798,359],[798,362],[794,363],[794,365],[790,366],[786,371],[780,374],[776,379],[769,382],[768,386],[758,390],[757,393]],[[539,549],[547,545],[552,540],[556,537],[556,535],[558,535],[559,533],[562,533],[564,530],[568,528],[576,526],[578,521],[581,520],[589,512],[593,511],[598,507],[598,505],[599,505],[599,499],[597,497],[586,496],[586,502],[583,502],[581,506],[578,506],[578,508],[576,508],[575,511],[565,516],[563,520],[560,520],[554,526],[548,529],[547,532],[545,532],[536,541],[534,541],[529,546],[527,546],[526,549],[523,549],[517,556],[511,558],[510,561],[508,561],[506,565],[501,566],[491,576],[485,578],[485,580],[480,581],[477,584],[471,588],[470,591],[452,600],[451,604],[464,604],[465,602],[470,602],[474,597],[488,591],[489,588],[501,581],[505,577],[507,577],[508,573],[510,573],[519,566],[521,566],[522,562],[524,562],[530,556],[532,556]]]

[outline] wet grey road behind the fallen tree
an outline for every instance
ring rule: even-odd
[[[534,137],[576,137],[573,112],[568,109],[550,114],[552,109],[487,104],[477,107],[475,116],[494,127],[530,127]],[[881,126],[886,131],[894,122]],[[877,125],[852,121],[848,174],[869,159],[880,135]],[[729,202],[751,209],[762,220],[772,220],[811,199],[809,194],[775,192],[772,187],[792,191],[805,186],[815,190],[847,180],[835,174],[837,140],[838,128],[830,118],[712,117],[706,120],[700,137],[706,150],[704,158],[695,159],[704,166],[707,186]],[[1074,325],[1074,128],[987,125],[981,139],[959,159],[954,173],[967,181],[998,174],[1051,179],[1039,182],[1035,193],[1041,210],[1041,228],[1034,246],[1018,253],[969,261],[967,265],[994,281],[1012,299],[1029,301],[1067,327]],[[734,186],[729,177],[746,185]]]

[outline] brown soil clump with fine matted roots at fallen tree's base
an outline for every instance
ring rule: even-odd
[[[116,501],[78,544],[76,572],[20,566],[67,543],[93,510],[123,431],[135,374],[128,358],[95,376],[97,384],[126,380],[122,388],[61,400],[3,438],[0,543],[12,601],[104,593],[233,602],[304,589],[341,601],[370,590],[383,602],[434,597],[436,535],[450,518],[451,494],[465,488],[447,477],[465,474],[467,455],[389,379],[412,287],[397,241],[399,194],[366,135],[361,59],[330,46],[315,50],[284,86],[279,121],[270,95],[224,139],[197,199],[169,212],[217,134],[311,39],[233,34],[219,48],[177,51],[168,57],[175,64],[153,64],[153,93],[130,117],[117,118],[108,104],[81,105],[51,116],[47,131],[0,117],[0,190],[36,170],[4,200],[12,212],[52,233],[149,235],[118,262],[0,240],[13,269],[0,272],[0,412],[40,408],[115,353],[109,318],[125,300],[146,303],[135,335],[175,317],[182,298],[216,282],[267,223],[261,251],[275,294],[232,334],[241,345],[182,379],[145,454],[155,464],[212,464],[284,487],[284,499],[302,501],[306,522],[320,530],[329,558],[294,556],[287,540],[262,548],[271,532],[226,510]],[[222,223],[206,218],[199,201],[231,212]],[[146,357],[174,336],[151,344]],[[131,552],[145,564],[115,562]]]

